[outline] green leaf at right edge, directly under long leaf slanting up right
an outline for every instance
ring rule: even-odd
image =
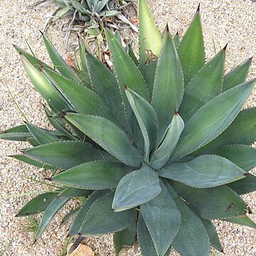
[[[228,91],[227,91],[228,92]],[[256,140],[256,107],[247,110],[241,110],[235,120],[217,138],[206,144],[201,149],[195,151],[195,154],[202,154],[209,149],[215,149],[217,146],[225,144],[246,144],[250,145]]]

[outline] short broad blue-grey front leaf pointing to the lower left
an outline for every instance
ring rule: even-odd
[[[132,171],[121,179],[114,193],[112,209],[119,212],[134,208],[155,198],[160,192],[157,172],[144,164],[142,169]]]

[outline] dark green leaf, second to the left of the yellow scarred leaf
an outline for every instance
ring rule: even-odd
[[[85,61],[90,75],[93,90],[102,97],[114,117],[122,125],[124,131],[132,134],[127,116],[122,104],[122,95],[120,94],[117,79],[111,71],[90,53],[86,53]],[[97,72],[95,72],[97,70]]]

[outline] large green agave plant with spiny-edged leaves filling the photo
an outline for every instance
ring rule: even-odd
[[[36,241],[82,197],[65,217],[74,216],[68,234],[114,233],[117,255],[137,239],[146,256],[223,251],[211,220],[256,228],[240,197],[256,190],[256,108],[242,110],[255,85],[245,81],[251,59],[223,75],[225,47],[206,63],[199,9],[181,40],[168,26],[159,33],[145,0],[139,22],[139,60],[106,31],[114,73],[82,40],[80,69],[46,36],[54,68],[16,47],[55,130],[26,123],[1,138],[29,142],[13,157],[52,169],[48,180],[60,186],[18,216],[43,212]]]

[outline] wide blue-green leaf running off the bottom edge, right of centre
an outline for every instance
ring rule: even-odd
[[[165,184],[181,213],[181,225],[171,245],[183,256],[210,255],[210,241],[203,223],[178,197],[174,188],[167,182]]]

